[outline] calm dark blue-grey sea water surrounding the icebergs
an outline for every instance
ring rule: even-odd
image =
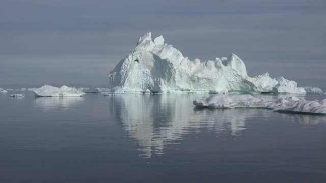
[[[0,182],[326,181],[323,115],[194,107],[208,95],[10,94],[0,94]]]

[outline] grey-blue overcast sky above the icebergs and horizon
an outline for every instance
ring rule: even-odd
[[[2,0],[1,84],[106,84],[145,32],[184,56],[237,54],[266,71],[326,89],[324,0]]]

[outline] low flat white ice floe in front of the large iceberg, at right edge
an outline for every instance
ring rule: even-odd
[[[279,98],[277,101],[268,101],[251,95],[216,94],[206,99],[195,100],[194,104],[196,107],[206,108],[267,108],[275,111],[326,114],[326,99],[306,101],[302,98],[287,97]]]

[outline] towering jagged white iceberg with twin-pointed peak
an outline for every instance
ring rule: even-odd
[[[201,62],[189,60],[163,36],[151,39],[151,33],[141,37],[137,46],[108,75],[114,93],[229,93],[273,92],[305,94],[295,81],[268,73],[256,77],[247,75],[246,66],[235,54]]]

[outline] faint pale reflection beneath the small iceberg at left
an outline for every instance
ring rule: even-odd
[[[70,109],[84,101],[84,97],[39,97],[34,100],[34,105],[44,110]]]

